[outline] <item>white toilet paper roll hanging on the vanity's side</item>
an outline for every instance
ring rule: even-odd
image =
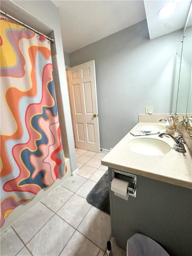
[[[129,182],[116,178],[113,178],[111,182],[111,190],[114,192],[114,194],[125,200],[128,200],[129,198],[128,186]]]

